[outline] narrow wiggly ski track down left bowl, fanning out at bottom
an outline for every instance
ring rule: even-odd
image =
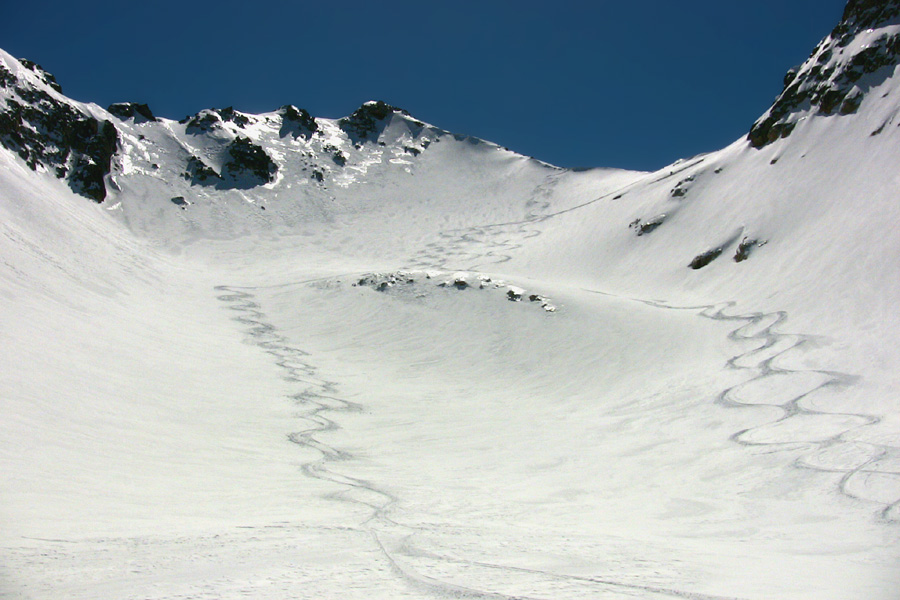
[[[346,413],[365,410],[363,405],[345,400],[338,395],[337,382],[327,381],[317,376],[317,369],[309,362],[309,353],[293,346],[280,334],[271,323],[266,321],[252,290],[258,288],[220,285],[215,288],[217,298],[228,305],[230,310],[238,313],[233,317],[240,323],[250,341],[271,355],[275,364],[285,371],[284,379],[295,382],[301,388],[289,398],[308,410],[301,417],[309,427],[290,433],[288,439],[298,446],[315,450],[319,458],[301,466],[307,477],[338,484],[344,489],[329,495],[337,502],[362,505],[371,512],[360,523],[360,527],[369,533],[373,544],[381,552],[392,570],[414,588],[439,598],[471,598],[483,600],[553,600],[555,596],[509,595],[500,592],[478,590],[459,584],[441,581],[435,577],[421,573],[410,566],[403,555],[408,557],[429,556],[447,564],[460,564],[490,571],[502,571],[507,575],[527,575],[537,577],[543,582],[566,582],[570,586],[584,589],[589,593],[626,592],[640,593],[643,597],[685,598],[688,600],[740,600],[734,597],[711,596],[685,590],[669,589],[650,585],[638,585],[603,577],[585,577],[565,575],[536,569],[527,569],[508,565],[497,565],[479,561],[461,560],[459,558],[438,556],[423,552],[413,546],[413,537],[417,530],[425,529],[405,525],[391,518],[391,511],[399,505],[400,499],[377,484],[334,470],[334,466],[352,460],[354,456],[339,448],[332,447],[317,435],[340,429],[331,413]],[[389,539],[397,536],[393,543]],[[396,549],[394,548],[396,547]]]

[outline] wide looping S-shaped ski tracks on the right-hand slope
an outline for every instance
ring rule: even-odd
[[[779,359],[815,341],[813,336],[777,331],[787,321],[787,313],[728,314],[734,302],[695,307],[640,302],[668,310],[697,310],[708,319],[742,323],[729,338],[759,341],[761,345],[733,356],[726,364],[753,376],[721,391],[716,403],[731,408],[770,407],[779,410],[781,416],[738,431],[731,439],[747,447],[800,451],[795,467],[839,475],[837,489],[841,494],[879,505],[881,520],[900,523],[900,447],[853,438],[855,433],[882,421],[877,415],[842,407],[846,402],[840,401],[840,393],[858,380],[856,376],[778,364]],[[835,409],[829,410],[829,405]]]

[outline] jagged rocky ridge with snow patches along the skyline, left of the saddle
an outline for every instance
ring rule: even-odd
[[[409,165],[445,137],[499,148],[428,125],[382,101],[366,102],[340,119],[314,118],[293,105],[259,115],[206,109],[178,122],[157,118],[136,102],[104,110],[65,97],[55,78],[34,63],[2,50],[0,59],[0,144],[32,170],[48,171],[97,202],[127,186],[123,176],[160,146],[179,151],[167,164],[145,161],[143,174],[166,181],[174,175],[218,191],[274,184],[285,169],[288,179],[346,186],[385,151],[395,163]],[[295,156],[305,160],[297,164]]]

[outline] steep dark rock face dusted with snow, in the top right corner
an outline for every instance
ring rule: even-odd
[[[850,0],[841,22],[800,67],[784,78],[784,90],[752,127],[747,139],[763,148],[787,137],[806,114],[847,115],[866,92],[887,79],[900,57],[900,0]]]

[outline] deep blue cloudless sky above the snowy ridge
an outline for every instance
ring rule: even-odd
[[[4,4],[0,47],[77,100],[181,118],[383,99],[560,166],[655,169],[745,134],[845,0]]]

